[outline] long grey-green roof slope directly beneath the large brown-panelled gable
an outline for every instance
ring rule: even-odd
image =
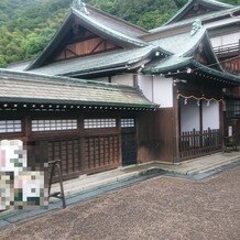
[[[124,67],[138,63],[160,47],[149,45],[131,50],[119,50],[80,58],[62,61],[32,69],[33,73],[51,75],[72,75],[77,73],[90,73],[99,69]],[[166,53],[166,52],[164,52]]]

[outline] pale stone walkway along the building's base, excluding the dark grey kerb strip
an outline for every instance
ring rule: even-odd
[[[240,161],[240,152],[219,152],[216,154],[185,161],[179,164],[167,164],[157,162],[137,164],[89,176],[84,175],[75,179],[66,181],[64,182],[64,190],[65,195],[84,193],[89,189],[96,189],[102,185],[108,185],[137,177],[151,170],[163,170],[167,173],[178,175],[196,175],[212,171],[215,168],[231,164],[237,161]],[[59,184],[54,184],[52,187],[52,192],[58,190]]]

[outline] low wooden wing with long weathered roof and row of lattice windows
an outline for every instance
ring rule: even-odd
[[[137,163],[137,126],[154,111],[133,87],[0,70],[0,140],[25,144],[29,164],[61,159],[65,177]]]

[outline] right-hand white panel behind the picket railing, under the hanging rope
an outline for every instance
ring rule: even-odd
[[[210,101],[207,106],[207,101],[203,101],[203,129],[219,129],[220,118],[219,118],[219,102]]]

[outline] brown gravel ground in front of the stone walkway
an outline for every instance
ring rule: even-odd
[[[0,239],[239,240],[240,167],[201,182],[152,178],[15,225]]]

